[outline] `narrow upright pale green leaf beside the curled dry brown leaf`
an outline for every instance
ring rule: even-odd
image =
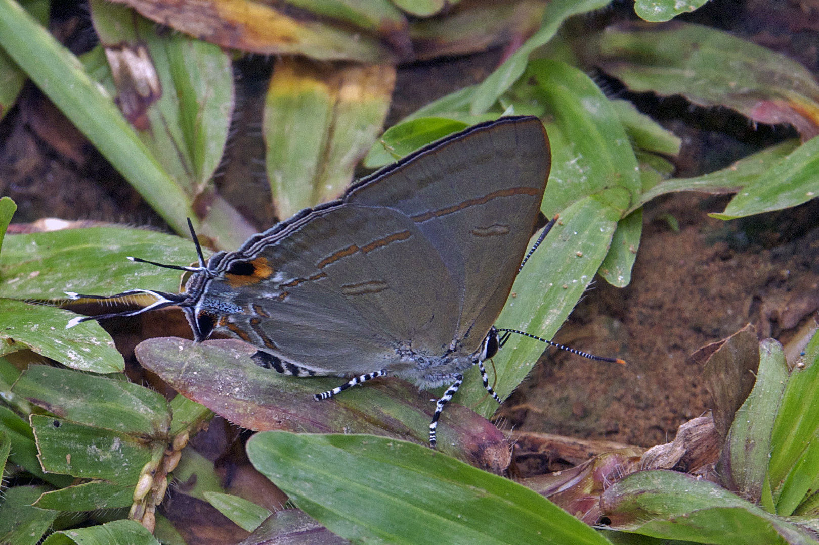
[[[762,498],[771,454],[771,431],[788,381],[788,365],[779,343],[763,340],[759,356],[756,384],[735,413],[717,466],[726,486],[753,502]]]

